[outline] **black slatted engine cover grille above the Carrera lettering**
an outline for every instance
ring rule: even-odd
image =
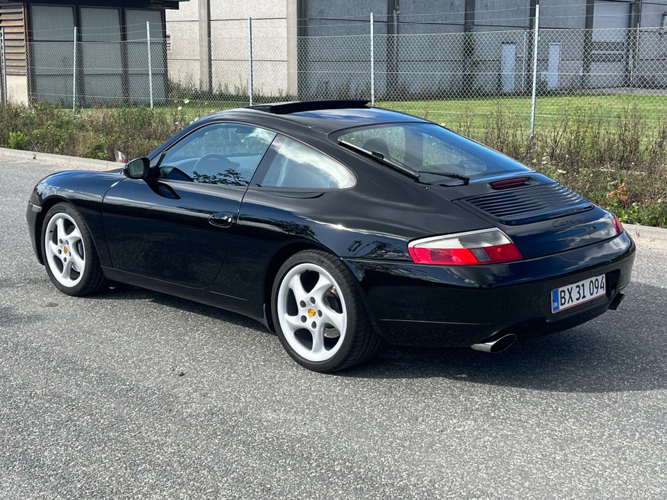
[[[479,194],[462,200],[503,224],[527,224],[593,208],[593,203],[559,183]]]

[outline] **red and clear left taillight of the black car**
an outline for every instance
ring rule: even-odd
[[[434,236],[408,244],[417,264],[477,265],[520,260],[515,244],[498,229]]]

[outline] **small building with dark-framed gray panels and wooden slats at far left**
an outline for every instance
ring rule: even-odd
[[[187,0],[0,0],[9,102],[90,106],[167,95],[165,10]],[[145,63],[151,38],[151,74]]]

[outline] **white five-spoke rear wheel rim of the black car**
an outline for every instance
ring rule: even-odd
[[[296,265],[283,276],[276,312],[286,342],[309,363],[331,360],[345,342],[345,297],[334,277],[317,264]]]

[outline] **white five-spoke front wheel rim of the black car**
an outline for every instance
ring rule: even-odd
[[[44,231],[44,258],[53,278],[67,288],[79,285],[85,270],[85,245],[74,219],[59,212]]]

